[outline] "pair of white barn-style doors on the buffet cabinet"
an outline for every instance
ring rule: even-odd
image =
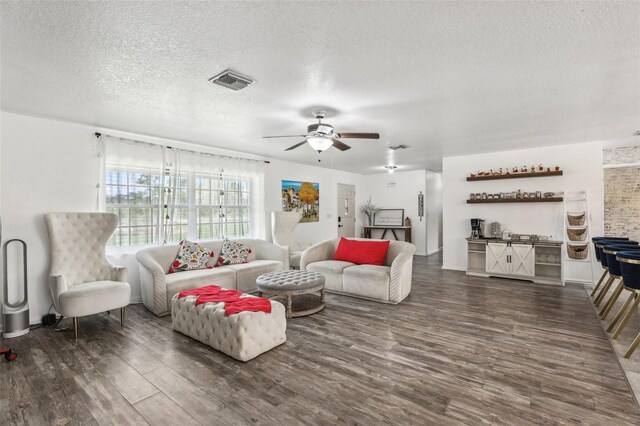
[[[535,248],[531,244],[487,243],[486,272],[533,277]]]

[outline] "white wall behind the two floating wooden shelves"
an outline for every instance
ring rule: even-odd
[[[467,182],[470,172],[515,165],[545,166],[558,164],[560,177],[527,178]],[[469,219],[481,218],[502,223],[502,229],[519,234],[552,235],[564,240],[562,203],[539,204],[466,204],[470,193],[522,191],[586,190],[589,202],[591,235],[603,233],[602,144],[599,142],[560,145],[518,151],[494,152],[460,157],[447,157],[442,162],[444,269],[466,269],[466,241],[471,233]],[[563,248],[564,249],[564,248]],[[565,264],[569,281],[591,280],[586,263]],[[598,268],[599,269],[599,268]]]

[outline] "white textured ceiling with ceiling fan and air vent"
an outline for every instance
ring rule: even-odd
[[[318,164],[261,136],[304,133],[322,106],[381,134],[320,156],[360,173],[640,128],[640,2],[1,6],[5,111]],[[257,82],[207,82],[229,67]]]

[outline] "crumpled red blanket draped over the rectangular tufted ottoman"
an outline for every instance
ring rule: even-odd
[[[178,293],[178,299],[187,296],[196,296],[196,306],[204,303],[224,302],[226,316],[239,314],[240,312],[265,312],[271,313],[271,302],[263,297],[241,297],[244,293],[236,290],[225,290],[217,285],[184,290]]]

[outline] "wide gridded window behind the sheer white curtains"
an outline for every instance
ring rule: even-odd
[[[106,208],[120,217],[109,246],[250,235],[251,178],[166,172],[163,187],[158,170],[105,170]]]

